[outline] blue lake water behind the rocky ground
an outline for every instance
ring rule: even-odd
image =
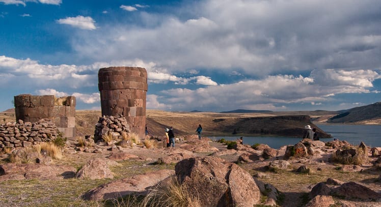
[[[331,134],[333,138],[324,138],[320,141],[328,142],[334,140],[346,140],[353,145],[359,145],[361,141],[368,146],[381,147],[381,125],[318,125],[320,129],[328,134]],[[236,140],[237,136],[224,136],[224,137],[209,137],[212,139]],[[267,144],[274,149],[279,149],[281,146],[296,144],[301,138],[295,137],[282,137],[282,136],[256,136],[256,137],[243,137],[244,144]]]

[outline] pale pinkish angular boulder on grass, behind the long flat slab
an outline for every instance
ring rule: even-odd
[[[109,167],[117,165],[119,165],[117,162],[106,158],[92,158],[75,176],[80,179],[113,179],[114,174]]]

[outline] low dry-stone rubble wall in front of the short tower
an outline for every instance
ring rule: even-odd
[[[52,141],[58,136],[58,128],[51,121],[8,122],[0,125],[0,149],[26,147],[42,141]]]

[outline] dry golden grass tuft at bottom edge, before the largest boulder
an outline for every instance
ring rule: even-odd
[[[112,200],[114,206],[126,207],[201,207],[198,196],[192,195],[189,190],[178,183],[176,178],[164,187],[151,189],[145,197],[129,195],[122,200]]]

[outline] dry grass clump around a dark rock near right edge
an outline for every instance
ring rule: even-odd
[[[348,149],[344,151],[337,150],[335,153],[332,153],[331,160],[341,164],[361,165],[367,163],[369,157],[361,147],[358,147],[357,149]]]

